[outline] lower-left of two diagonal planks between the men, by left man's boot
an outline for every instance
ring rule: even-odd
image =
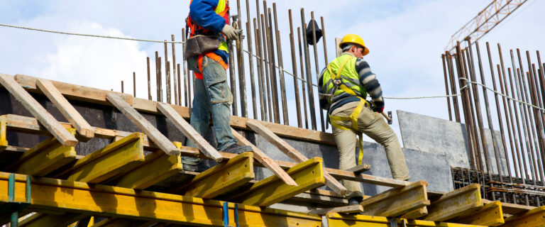
[[[260,162],[265,167],[267,167],[272,173],[274,173],[277,177],[282,179],[282,181],[285,182],[287,185],[297,186],[297,183],[295,183],[295,181],[292,179],[292,177],[290,177],[290,175],[287,175],[287,172],[282,170],[282,167],[280,167],[280,165],[278,165],[277,162],[274,162],[267,154],[265,154],[262,150],[260,150],[255,145],[253,145],[250,141],[244,138],[241,134],[239,134],[233,128],[231,128],[231,132],[233,133],[233,135],[235,135],[235,138],[236,140],[238,140],[238,143],[252,147],[253,156],[255,157],[256,160],[258,160],[258,162]]]

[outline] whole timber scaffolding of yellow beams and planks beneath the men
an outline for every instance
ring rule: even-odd
[[[429,192],[423,181],[324,168],[320,157],[304,157],[282,139],[331,144],[329,133],[232,116],[230,123],[237,129],[233,132],[239,143],[253,145],[255,136],[263,136],[294,162],[272,160],[254,145],[253,153],[233,155],[218,152],[194,133],[185,121],[189,109],[184,106],[20,74],[0,74],[0,84],[4,87],[0,88],[2,111],[11,111],[0,116],[0,224],[386,227],[545,223],[545,206],[482,199],[480,184],[446,194]],[[199,149],[176,142],[186,137]],[[180,155],[218,164],[204,172],[188,172],[182,170]],[[255,172],[263,167],[274,175],[258,179]],[[338,179],[392,189],[365,196],[358,206],[346,206],[339,196],[343,187]],[[334,192],[317,189],[324,185]],[[268,207],[305,202],[316,209],[296,212]],[[353,212],[358,213],[347,214]]]

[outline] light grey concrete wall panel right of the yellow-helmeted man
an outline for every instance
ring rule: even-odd
[[[424,153],[434,155],[445,155],[448,165],[451,167],[470,167],[465,124],[399,110],[397,111],[397,118],[400,122],[404,148],[421,150]],[[497,153],[500,157],[500,170],[506,175],[507,162],[502,145],[502,136],[499,131],[494,133],[497,140]],[[492,173],[497,174],[497,162],[491,134],[490,129],[485,128],[490,170]],[[478,133],[478,136],[480,137],[480,133]],[[483,143],[481,140],[478,140],[478,142],[480,150],[482,150]],[[481,158],[485,162],[483,152],[481,152]]]

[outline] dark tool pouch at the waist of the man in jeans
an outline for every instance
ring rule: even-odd
[[[188,38],[185,43],[184,57],[189,59],[191,57],[202,55],[204,53],[216,50],[221,44],[221,38],[217,35],[195,35],[192,38]]]

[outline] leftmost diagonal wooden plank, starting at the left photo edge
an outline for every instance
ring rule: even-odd
[[[51,114],[38,101],[36,101],[28,92],[17,84],[11,75],[0,73],[0,84],[19,101],[25,108],[31,112],[33,116],[38,118],[38,121],[48,129],[48,131],[57,138],[57,140],[66,146],[75,146],[77,144],[76,138],[68,133],[68,131],[55,120]]]

